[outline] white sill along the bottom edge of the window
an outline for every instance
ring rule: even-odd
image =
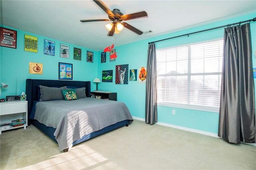
[[[190,109],[190,110],[197,110],[197,111],[207,111],[207,112],[219,113],[219,108],[216,108],[216,107],[183,105],[183,104],[177,104],[177,103],[164,103],[164,102],[158,102],[157,105],[158,106],[166,106],[166,107],[176,107],[176,108],[181,108],[181,109]]]

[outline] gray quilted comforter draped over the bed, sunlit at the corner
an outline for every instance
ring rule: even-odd
[[[60,150],[71,148],[74,141],[91,132],[120,121],[133,121],[124,103],[90,97],[38,102],[34,119],[56,128],[54,136]]]

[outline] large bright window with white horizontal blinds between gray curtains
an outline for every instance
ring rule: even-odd
[[[158,105],[217,111],[223,40],[158,49]]]

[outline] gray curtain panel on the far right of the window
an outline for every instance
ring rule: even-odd
[[[225,28],[218,136],[255,142],[254,95],[250,23]]]

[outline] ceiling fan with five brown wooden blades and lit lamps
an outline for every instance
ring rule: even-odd
[[[112,21],[112,23],[106,25],[106,28],[108,29],[108,34],[107,34],[108,36],[114,36],[114,33],[119,33],[124,27],[135,32],[138,35],[141,35],[143,33],[137,28],[122,21],[148,16],[148,14],[145,11],[124,15],[122,12],[120,12],[119,9],[114,9],[111,11],[106,6],[106,4],[104,4],[104,2],[102,2],[101,0],[93,0],[93,1],[108,14],[109,19],[80,20],[81,22]]]

